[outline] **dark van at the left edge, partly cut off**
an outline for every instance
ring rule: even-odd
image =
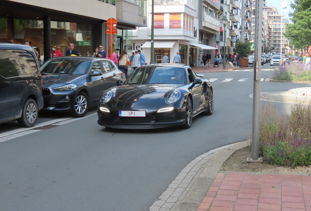
[[[42,76],[32,47],[0,43],[0,123],[33,127],[43,107]]]

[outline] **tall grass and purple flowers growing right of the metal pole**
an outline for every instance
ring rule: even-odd
[[[276,106],[262,108],[259,154],[280,166],[311,165],[311,104],[297,103],[291,115],[277,115]]]

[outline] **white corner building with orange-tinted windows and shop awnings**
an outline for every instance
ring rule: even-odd
[[[133,48],[141,50],[146,62],[151,61],[152,1],[148,2],[148,27],[133,31]],[[219,34],[220,0],[155,0],[154,48],[155,63],[162,63],[165,53],[173,63],[177,52],[181,63],[190,66],[201,64],[202,54],[209,50],[213,55]],[[217,45],[216,45],[217,46]]]

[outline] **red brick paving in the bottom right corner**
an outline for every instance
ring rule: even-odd
[[[311,177],[218,173],[198,211],[311,211]]]

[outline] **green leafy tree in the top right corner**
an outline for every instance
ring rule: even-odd
[[[290,46],[303,49],[311,45],[311,0],[294,0],[290,7],[294,10],[289,13],[293,23],[286,26],[285,36]]]

